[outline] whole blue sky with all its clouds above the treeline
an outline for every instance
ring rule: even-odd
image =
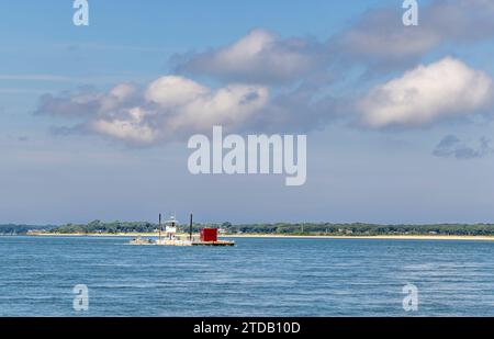
[[[0,1],[0,224],[494,222],[494,3]],[[307,178],[193,176],[303,134]]]

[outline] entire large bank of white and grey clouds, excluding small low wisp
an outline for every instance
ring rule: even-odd
[[[61,131],[149,146],[212,125],[308,132],[341,118],[375,129],[422,127],[492,109],[493,80],[485,72],[452,57],[420,60],[447,44],[493,38],[494,2],[431,1],[414,27],[403,25],[401,10],[368,11],[322,42],[254,30],[227,46],[176,56],[175,74],[142,88],[45,94],[36,112],[75,121]],[[375,72],[378,84],[364,90],[369,79],[351,79],[359,71]],[[203,76],[217,87],[194,80]]]

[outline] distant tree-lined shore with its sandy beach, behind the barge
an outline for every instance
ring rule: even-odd
[[[377,225],[377,224],[194,224],[193,233],[203,227],[218,228],[221,237],[259,238],[373,238],[373,239],[462,239],[494,240],[494,224],[431,224],[431,225]],[[0,225],[0,235],[33,236],[158,236],[157,224],[145,222],[93,221],[88,224],[61,226]],[[179,233],[187,234],[188,225],[180,225]]]

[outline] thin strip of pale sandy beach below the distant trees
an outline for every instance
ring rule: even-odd
[[[44,233],[27,236],[53,236],[53,237],[157,237],[157,233],[142,234],[58,234]],[[180,236],[187,236],[181,234]],[[285,239],[375,239],[375,240],[482,240],[494,241],[494,236],[444,236],[444,235],[379,235],[379,236],[303,236],[303,235],[273,235],[273,234],[243,234],[220,235],[220,238],[285,238]]]

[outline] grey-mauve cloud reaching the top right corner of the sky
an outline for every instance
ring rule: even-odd
[[[445,43],[494,37],[491,0],[436,0],[419,7],[419,25],[405,26],[400,7],[367,12],[353,26],[330,39],[336,49],[367,64],[416,60]]]

